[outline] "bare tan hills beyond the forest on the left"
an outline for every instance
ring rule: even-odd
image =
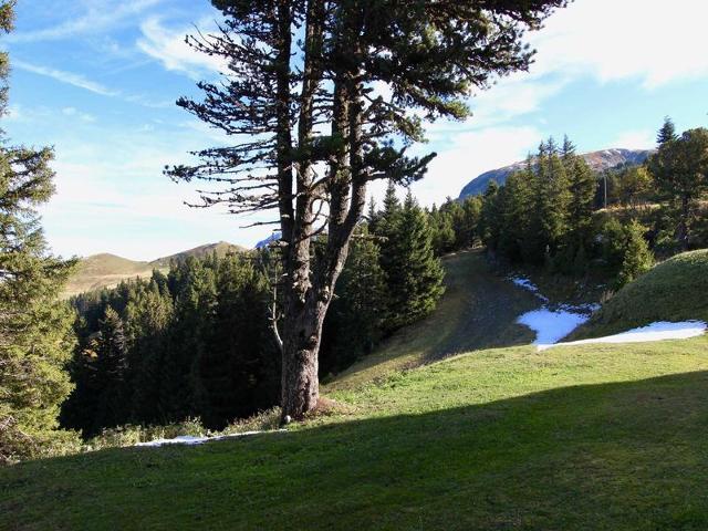
[[[185,260],[187,257],[201,258],[212,252],[222,257],[228,252],[243,252],[244,249],[226,241],[209,243],[195,249],[178,252],[169,257],[158,258],[152,262],[128,260],[115,254],[102,253],[82,259],[76,272],[70,279],[64,290],[65,296],[73,296],[86,291],[102,288],[114,288],[122,281],[136,277],[149,277],[153,270],[167,270],[173,261]]]

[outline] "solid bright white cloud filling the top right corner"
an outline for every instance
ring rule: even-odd
[[[532,34],[532,74],[593,75],[601,82],[639,79],[646,88],[708,73],[699,0],[576,0]]]

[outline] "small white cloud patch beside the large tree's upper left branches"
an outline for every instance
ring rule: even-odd
[[[198,28],[208,25],[206,19],[197,24]],[[143,37],[138,39],[137,46],[169,71],[198,79],[207,72],[218,73],[226,69],[221,58],[199,53],[185,42],[185,35],[195,33],[194,28],[170,29],[158,18],[150,18],[140,24],[140,31]]]

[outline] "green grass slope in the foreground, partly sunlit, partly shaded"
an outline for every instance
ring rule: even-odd
[[[450,260],[493,281],[476,254]],[[439,335],[416,363],[460,333]],[[702,530],[707,353],[700,337],[362,364],[329,387],[347,413],[288,434],[0,470],[0,529]]]

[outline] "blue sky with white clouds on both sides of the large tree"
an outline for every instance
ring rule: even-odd
[[[42,208],[54,252],[152,260],[270,235],[244,228],[259,218],[187,207],[196,186],[163,175],[223,140],[175,105],[218,76],[218,61],[184,43],[218,19],[208,0],[19,0],[17,14],[0,38],[13,69],[1,126],[13,144],[54,146],[58,192]],[[426,206],[457,197],[549,136],[581,152],[652,148],[665,116],[708,126],[706,20],[702,0],[575,0],[527,35],[529,72],[476,94],[470,119],[428,126],[418,149],[438,157],[414,194]]]

